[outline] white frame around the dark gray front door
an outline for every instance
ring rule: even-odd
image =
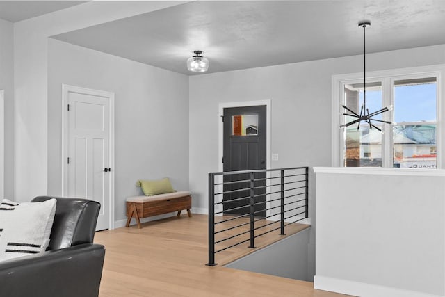
[[[224,109],[230,107],[245,107],[266,105],[266,169],[270,169],[270,99],[255,101],[239,101],[239,102],[220,102],[218,106],[218,115],[223,118]],[[224,125],[223,120],[218,120],[218,172],[223,172],[223,151],[224,151]],[[267,172],[267,177],[270,173]],[[267,186],[270,185],[270,179],[267,179]],[[222,189],[222,188],[221,188]],[[221,190],[220,189],[220,190]],[[219,192],[218,192],[219,193]],[[266,193],[270,193],[270,187],[267,187]],[[221,195],[222,196],[222,195]],[[215,201],[215,202],[222,202]],[[266,209],[270,209],[270,202],[266,203]],[[218,204],[215,211],[223,211],[223,204]],[[270,210],[266,211],[266,216],[270,216]]]

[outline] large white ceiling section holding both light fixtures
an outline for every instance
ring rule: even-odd
[[[211,73],[362,54],[363,19],[368,52],[445,44],[443,0],[193,1],[53,37],[183,74],[199,49]]]

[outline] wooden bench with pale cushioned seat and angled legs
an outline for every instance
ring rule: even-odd
[[[190,209],[192,207],[192,196],[190,192],[179,191],[153,196],[133,196],[127,198],[127,225],[129,227],[131,218],[136,218],[138,228],[141,228],[140,218],[167,214],[177,211],[177,217],[181,216],[183,209],[191,217]]]

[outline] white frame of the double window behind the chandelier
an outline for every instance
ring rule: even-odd
[[[442,115],[445,114],[445,104],[442,104],[444,98],[444,81],[442,75],[445,71],[445,65],[432,65],[424,67],[400,68],[394,70],[381,70],[366,72],[366,83],[381,81],[382,83],[382,106],[394,106],[394,81],[401,79],[421,79],[424,77],[436,77],[436,168],[445,168],[443,163],[445,153],[443,141],[445,139]],[[332,76],[332,166],[344,167],[344,133],[339,126],[344,123],[343,108],[344,86],[350,83],[363,82],[362,73],[338,74]],[[388,111],[382,114],[383,120],[392,120],[394,111]],[[432,122],[426,122],[432,123]],[[382,168],[393,168],[394,143],[392,142],[392,126],[382,125]],[[426,169],[431,170],[431,169]]]

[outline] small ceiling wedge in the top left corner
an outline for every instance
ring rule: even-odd
[[[84,2],[86,1],[0,1],[0,19],[19,22]]]

